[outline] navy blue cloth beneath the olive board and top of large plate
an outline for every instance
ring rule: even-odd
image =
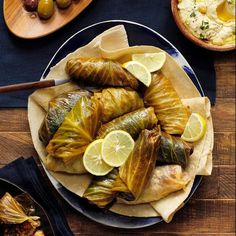
[[[205,94],[215,102],[216,81],[213,52],[195,46],[177,28],[170,0],[93,0],[76,19],[59,31],[35,40],[12,35],[3,20],[0,6],[0,86],[37,81],[60,45],[75,32],[91,24],[123,19],[144,24],[166,37],[193,67]],[[0,107],[26,107],[32,91],[0,94]]]

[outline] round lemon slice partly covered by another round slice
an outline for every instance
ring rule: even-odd
[[[93,141],[88,145],[83,156],[83,163],[85,169],[97,176],[103,176],[108,174],[113,167],[107,165],[101,155],[103,139]]]

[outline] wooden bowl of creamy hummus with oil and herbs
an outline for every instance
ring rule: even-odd
[[[235,49],[235,0],[171,0],[171,9],[181,32],[198,46]]]

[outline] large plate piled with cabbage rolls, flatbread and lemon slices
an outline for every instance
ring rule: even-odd
[[[69,38],[29,97],[34,147],[76,210],[104,225],[169,223],[211,174],[210,102],[163,36],[106,21]],[[181,213],[180,213],[181,214]]]

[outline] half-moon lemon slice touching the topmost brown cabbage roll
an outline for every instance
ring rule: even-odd
[[[137,61],[128,61],[122,65],[127,71],[129,71],[140,82],[147,87],[151,84],[152,76],[148,69]]]

